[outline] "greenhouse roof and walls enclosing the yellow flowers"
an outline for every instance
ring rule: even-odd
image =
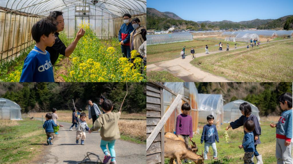
[[[62,11],[64,31],[74,37],[79,24],[89,23],[100,39],[117,37],[122,16],[129,13],[146,26],[146,0],[1,0],[0,62],[13,59],[35,42],[30,31],[50,11]]]

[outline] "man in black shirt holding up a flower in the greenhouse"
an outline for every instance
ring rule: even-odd
[[[74,41],[68,47],[66,47],[64,43],[59,39],[59,32],[64,30],[64,18],[62,14],[63,14],[62,11],[52,11],[50,12],[48,16],[49,20],[58,23],[58,25],[56,26],[57,32],[55,32],[55,37],[56,37],[55,43],[52,47],[46,48],[46,50],[50,53],[50,60],[53,66],[53,73],[55,71],[54,64],[57,61],[59,54],[69,57],[71,53],[73,53],[77,45],[77,42],[82,36],[84,36],[84,33],[85,33],[84,29],[80,28],[79,32],[77,32],[76,34]]]

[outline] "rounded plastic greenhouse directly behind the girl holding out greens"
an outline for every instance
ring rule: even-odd
[[[239,107],[240,107],[240,104],[242,104],[243,102],[247,102],[247,101],[235,100],[224,105],[224,123],[235,121],[239,117],[242,116],[241,111],[239,110]],[[247,102],[247,103],[251,106],[252,114],[257,116],[258,120],[260,120],[258,107],[251,104],[250,102]]]

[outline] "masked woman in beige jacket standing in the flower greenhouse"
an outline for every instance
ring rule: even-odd
[[[139,52],[139,46],[147,40],[147,29],[144,26],[140,26],[138,18],[132,20],[132,27],[134,30],[130,34],[130,50],[137,50]],[[137,57],[143,58],[141,55],[137,55]]]

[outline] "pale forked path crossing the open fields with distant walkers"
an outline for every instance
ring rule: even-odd
[[[290,40],[290,39],[285,39]],[[284,41],[284,40],[277,40],[277,41],[271,41],[271,42],[262,42],[261,45],[266,43],[272,43],[272,42],[278,42],[278,41]],[[249,43],[248,43],[249,44]],[[234,45],[230,46],[231,48],[229,51],[236,50],[234,49]],[[196,57],[206,56],[214,53],[220,53],[226,51],[226,46],[223,45],[223,50],[216,50],[209,52],[209,54],[205,53],[197,53],[195,54]],[[240,46],[239,48],[246,48],[246,46]],[[181,59],[181,57],[178,57],[173,60],[163,61],[163,62],[157,62],[153,64],[147,65],[147,72],[148,71],[168,71],[174,76],[181,78],[182,80],[186,82],[229,82],[230,80],[221,76],[216,76],[214,74],[211,74],[206,71],[202,71],[200,68],[195,67],[194,65],[190,64],[192,61],[192,56],[188,55],[184,60]]]

